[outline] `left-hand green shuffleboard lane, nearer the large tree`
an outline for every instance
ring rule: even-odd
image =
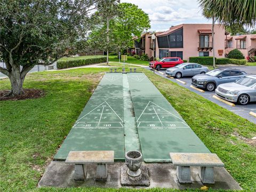
[[[65,161],[72,150],[114,150],[115,160],[123,161],[123,103],[122,74],[106,74],[54,158]]]

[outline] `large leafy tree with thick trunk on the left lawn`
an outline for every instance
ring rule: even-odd
[[[26,74],[85,49],[90,15],[103,0],[0,1],[0,67],[11,82],[10,95],[23,94]],[[81,44],[83,42],[83,44]]]

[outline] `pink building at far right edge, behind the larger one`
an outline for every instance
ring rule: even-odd
[[[228,35],[225,42],[225,54],[228,54],[231,50],[238,49],[243,53],[245,59],[254,61],[254,57],[256,56],[256,34]]]

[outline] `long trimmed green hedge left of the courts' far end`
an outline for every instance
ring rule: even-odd
[[[102,63],[102,62],[107,62],[107,57],[58,60],[57,68],[65,69],[70,67],[79,67],[79,66],[91,65],[91,64]]]

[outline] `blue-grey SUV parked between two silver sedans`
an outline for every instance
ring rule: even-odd
[[[191,83],[198,88],[214,91],[218,85],[235,82],[237,79],[246,75],[244,71],[239,69],[218,68],[206,74],[195,75]]]

